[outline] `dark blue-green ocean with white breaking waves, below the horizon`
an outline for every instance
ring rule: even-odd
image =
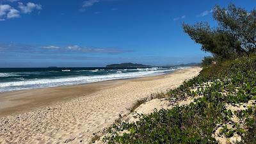
[[[0,68],[0,92],[168,74],[185,67]]]

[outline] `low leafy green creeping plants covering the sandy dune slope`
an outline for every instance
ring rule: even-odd
[[[194,90],[194,91],[191,91]],[[231,111],[225,105],[244,104],[256,98],[256,57],[225,61],[207,67],[200,75],[167,93],[170,103],[201,96],[188,106],[160,109],[136,115],[138,122],[122,122],[109,128],[106,143],[218,143],[212,134],[221,127],[226,138],[238,134],[256,142],[256,107]],[[238,106],[238,105],[237,105]],[[236,115],[239,123],[232,117]],[[227,127],[230,125],[231,128]],[[242,126],[243,125],[243,126]],[[246,131],[248,129],[248,131]]]

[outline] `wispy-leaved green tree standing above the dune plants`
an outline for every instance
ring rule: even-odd
[[[227,9],[215,6],[213,18],[217,28],[207,22],[194,26],[183,24],[185,33],[202,45],[202,50],[211,52],[219,60],[230,60],[250,56],[256,52],[256,10],[247,12],[230,4]]]

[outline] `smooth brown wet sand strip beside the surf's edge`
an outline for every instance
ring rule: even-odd
[[[191,67],[188,67],[188,68],[191,68]],[[182,68],[179,70],[186,70],[188,68]],[[161,79],[175,72],[179,72],[179,70],[173,70],[166,74],[161,74],[156,76],[111,79],[107,81],[97,81],[93,83],[70,84],[70,85],[54,86],[54,87],[47,87],[47,88],[32,88],[28,90],[0,92],[0,118],[6,115],[15,115],[22,112],[30,111],[36,107],[40,108],[42,106],[51,106],[51,104],[54,104],[55,102],[63,102],[65,100],[71,100],[71,99],[76,99],[77,97],[83,97],[85,95],[92,94],[93,92],[97,92],[99,90],[109,88],[111,86],[118,86],[119,84],[122,84],[128,81],[145,81],[145,79]],[[81,90],[81,88],[85,88],[85,90]],[[75,89],[76,91],[78,90],[78,92],[74,92],[73,90]],[[72,92],[71,93],[61,92],[61,91],[67,92],[67,90],[71,90]],[[53,93],[49,93],[50,91]],[[36,95],[34,95],[35,93]],[[46,94],[49,94],[49,95],[46,95]],[[28,104],[29,104],[29,107],[27,106]]]

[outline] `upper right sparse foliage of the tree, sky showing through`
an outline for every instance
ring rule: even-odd
[[[220,29],[239,40],[243,51],[248,54],[256,51],[256,10],[247,12],[234,4],[230,4],[227,9],[215,6],[213,17]]]

